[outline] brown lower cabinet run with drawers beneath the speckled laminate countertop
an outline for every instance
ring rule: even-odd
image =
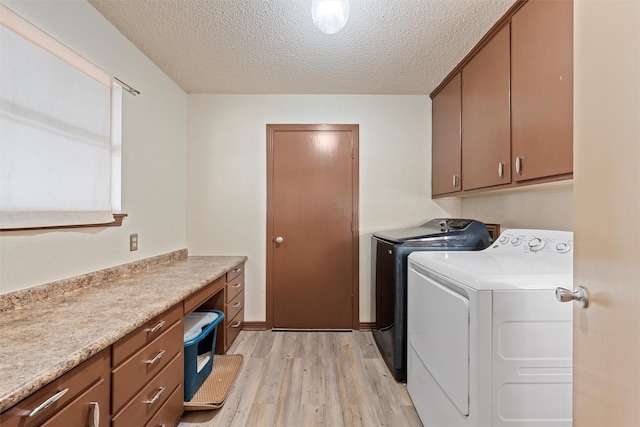
[[[184,314],[225,313],[216,352],[244,323],[244,264],[0,414],[2,427],[175,426],[184,410]]]

